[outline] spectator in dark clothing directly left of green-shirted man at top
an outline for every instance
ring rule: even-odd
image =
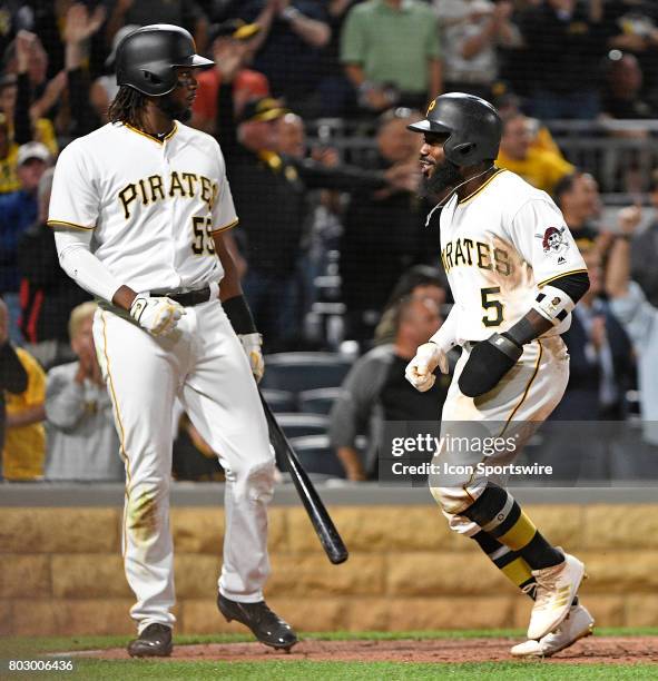
[[[265,73],[275,97],[304,117],[321,116],[317,83],[322,49],[331,38],[325,3],[320,0],[249,0],[239,10],[262,31],[254,38],[254,68]]]

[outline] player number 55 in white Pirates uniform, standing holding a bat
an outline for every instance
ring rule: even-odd
[[[134,657],[173,648],[176,396],[226,472],[218,608],[267,645],[297,641],[263,600],[275,466],[252,377],[263,374],[261,337],[229,250],[237,217],[219,146],[180,122],[190,115],[197,69],[212,65],[176,26],[127,36],[110,122],[62,151],[50,201],[61,266],[99,299],[94,336],[126,465]]]

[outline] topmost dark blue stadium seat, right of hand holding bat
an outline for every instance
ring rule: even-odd
[[[301,393],[338,387],[352,361],[334,353],[277,353],[265,357],[262,388]]]

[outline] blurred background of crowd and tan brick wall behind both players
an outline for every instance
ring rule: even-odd
[[[190,125],[226,157],[243,287],[267,353],[262,387],[325,499],[343,506],[352,557],[338,571],[303,512],[286,507],[298,502],[281,466],[274,605],[306,630],[527,616],[497,575],[462,579],[477,560],[455,553],[469,547],[426,490],[374,482],[387,424],[409,435],[436,424],[450,385],[442,376],[420,394],[403,377],[452,303],[439,234],[424,226],[432,206],[416,191],[421,140],[406,126],[438,93],[464,91],[498,107],[498,165],[553,197],[590,270],[564,335],[567,394],[523,454],[554,465],[546,484],[561,490],[519,499],[553,542],[586,551],[600,623],[658,624],[658,3],[8,0],[0,633],[129,631],[124,471],[90,333],[96,307],[60,269],[46,217],[58,154],[107,122],[118,42],[154,22],[187,28],[216,62],[199,73]],[[222,541],[222,485],[210,483],[223,471],[180,408],[175,422],[177,616],[183,631],[214,632],[225,625],[207,599]]]

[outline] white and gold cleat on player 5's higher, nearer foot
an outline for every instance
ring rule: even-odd
[[[537,595],[530,614],[528,638],[539,641],[557,629],[569,614],[573,596],[585,576],[585,565],[577,557],[564,553],[563,563],[533,570],[532,574],[537,580]]]

